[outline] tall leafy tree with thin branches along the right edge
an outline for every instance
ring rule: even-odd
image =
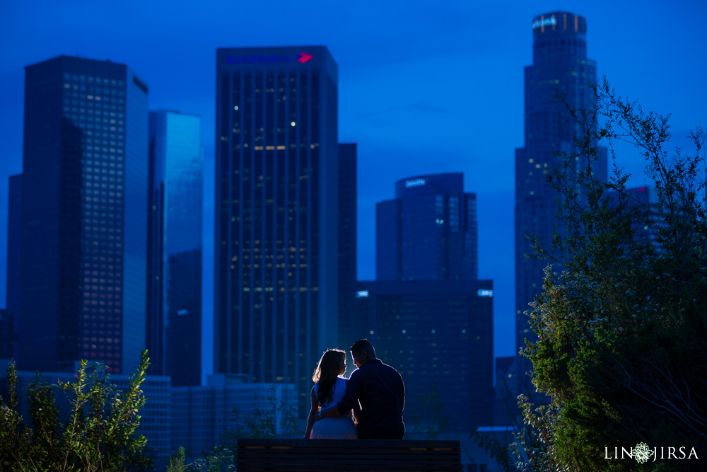
[[[549,265],[526,312],[537,341],[526,341],[522,354],[551,405],[534,428],[544,435],[535,451],[544,465],[519,450],[521,470],[631,470],[635,461],[604,457],[641,442],[707,451],[706,135],[697,128],[689,134],[694,154],[671,155],[668,117],[620,98],[606,79],[593,88],[596,108],[571,110],[582,128],[577,154],[563,155],[548,174],[560,195],[561,231],[552,248],[534,240],[536,257]],[[655,205],[626,188],[617,142],[645,159]],[[604,143],[614,169],[606,182],[592,173]],[[537,410],[520,400],[526,422],[537,424]],[[701,470],[696,462],[658,459],[645,468]]]

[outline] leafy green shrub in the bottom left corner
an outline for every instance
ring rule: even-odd
[[[125,392],[109,384],[105,365],[86,359],[72,382],[49,385],[37,373],[28,386],[29,425],[17,411],[17,372],[10,364],[7,401],[0,398],[0,471],[151,470],[147,441],[137,432],[145,404],[140,385],[149,364],[144,350]],[[57,388],[69,398],[66,424],[54,403]]]

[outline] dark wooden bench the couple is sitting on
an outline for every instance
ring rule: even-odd
[[[238,439],[238,472],[461,471],[459,441]]]

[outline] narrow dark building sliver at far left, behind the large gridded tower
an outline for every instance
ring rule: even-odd
[[[22,174],[11,175],[7,211],[7,319],[11,319],[11,344],[7,346],[12,356],[18,354],[20,323],[20,242],[22,241]],[[0,355],[2,357],[2,355]]]

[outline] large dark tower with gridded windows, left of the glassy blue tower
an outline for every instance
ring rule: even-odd
[[[25,67],[18,367],[132,371],[145,347],[148,88],[125,64]]]

